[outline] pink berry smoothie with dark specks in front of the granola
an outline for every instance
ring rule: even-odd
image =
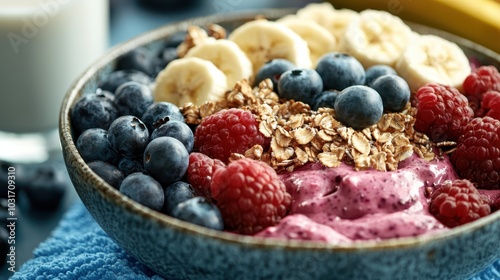
[[[458,179],[447,156],[413,155],[397,171],[355,171],[308,164],[280,174],[292,195],[290,214],[257,236],[329,243],[416,236],[443,230],[428,212],[426,189]]]

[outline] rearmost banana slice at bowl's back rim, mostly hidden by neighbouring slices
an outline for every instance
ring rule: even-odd
[[[347,25],[359,15],[350,9],[335,9],[328,2],[310,3],[296,13],[297,17],[312,20],[326,28],[338,43],[344,37]],[[335,50],[339,50],[338,48]]]

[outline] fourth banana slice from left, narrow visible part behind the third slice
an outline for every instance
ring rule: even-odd
[[[326,28],[312,20],[288,15],[278,19],[276,22],[290,28],[307,42],[309,57],[311,58],[313,67],[320,56],[332,52],[336,48],[335,37]]]

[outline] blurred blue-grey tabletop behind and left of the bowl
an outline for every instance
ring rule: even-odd
[[[184,8],[167,10],[151,9],[141,4],[142,0],[110,0],[110,48],[130,40],[146,31],[177,21],[225,13],[236,10],[301,7],[310,2],[306,0],[193,0],[193,4]],[[145,1],[144,1],[145,2]],[[165,0],[165,2],[168,2]],[[175,1],[171,1],[175,2]],[[62,161],[62,155],[56,154],[55,160]],[[69,178],[68,178],[69,180]],[[16,269],[32,258],[33,250],[40,242],[50,236],[52,230],[68,208],[78,198],[71,185],[68,185],[66,196],[60,207],[54,212],[38,212],[29,208],[26,199],[19,197],[17,205],[16,229]],[[11,274],[4,265],[0,271],[0,279],[7,279]]]

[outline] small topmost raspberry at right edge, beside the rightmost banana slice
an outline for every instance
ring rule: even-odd
[[[465,95],[472,95],[482,100],[486,91],[500,91],[500,73],[495,66],[481,66],[465,78],[462,86]]]

